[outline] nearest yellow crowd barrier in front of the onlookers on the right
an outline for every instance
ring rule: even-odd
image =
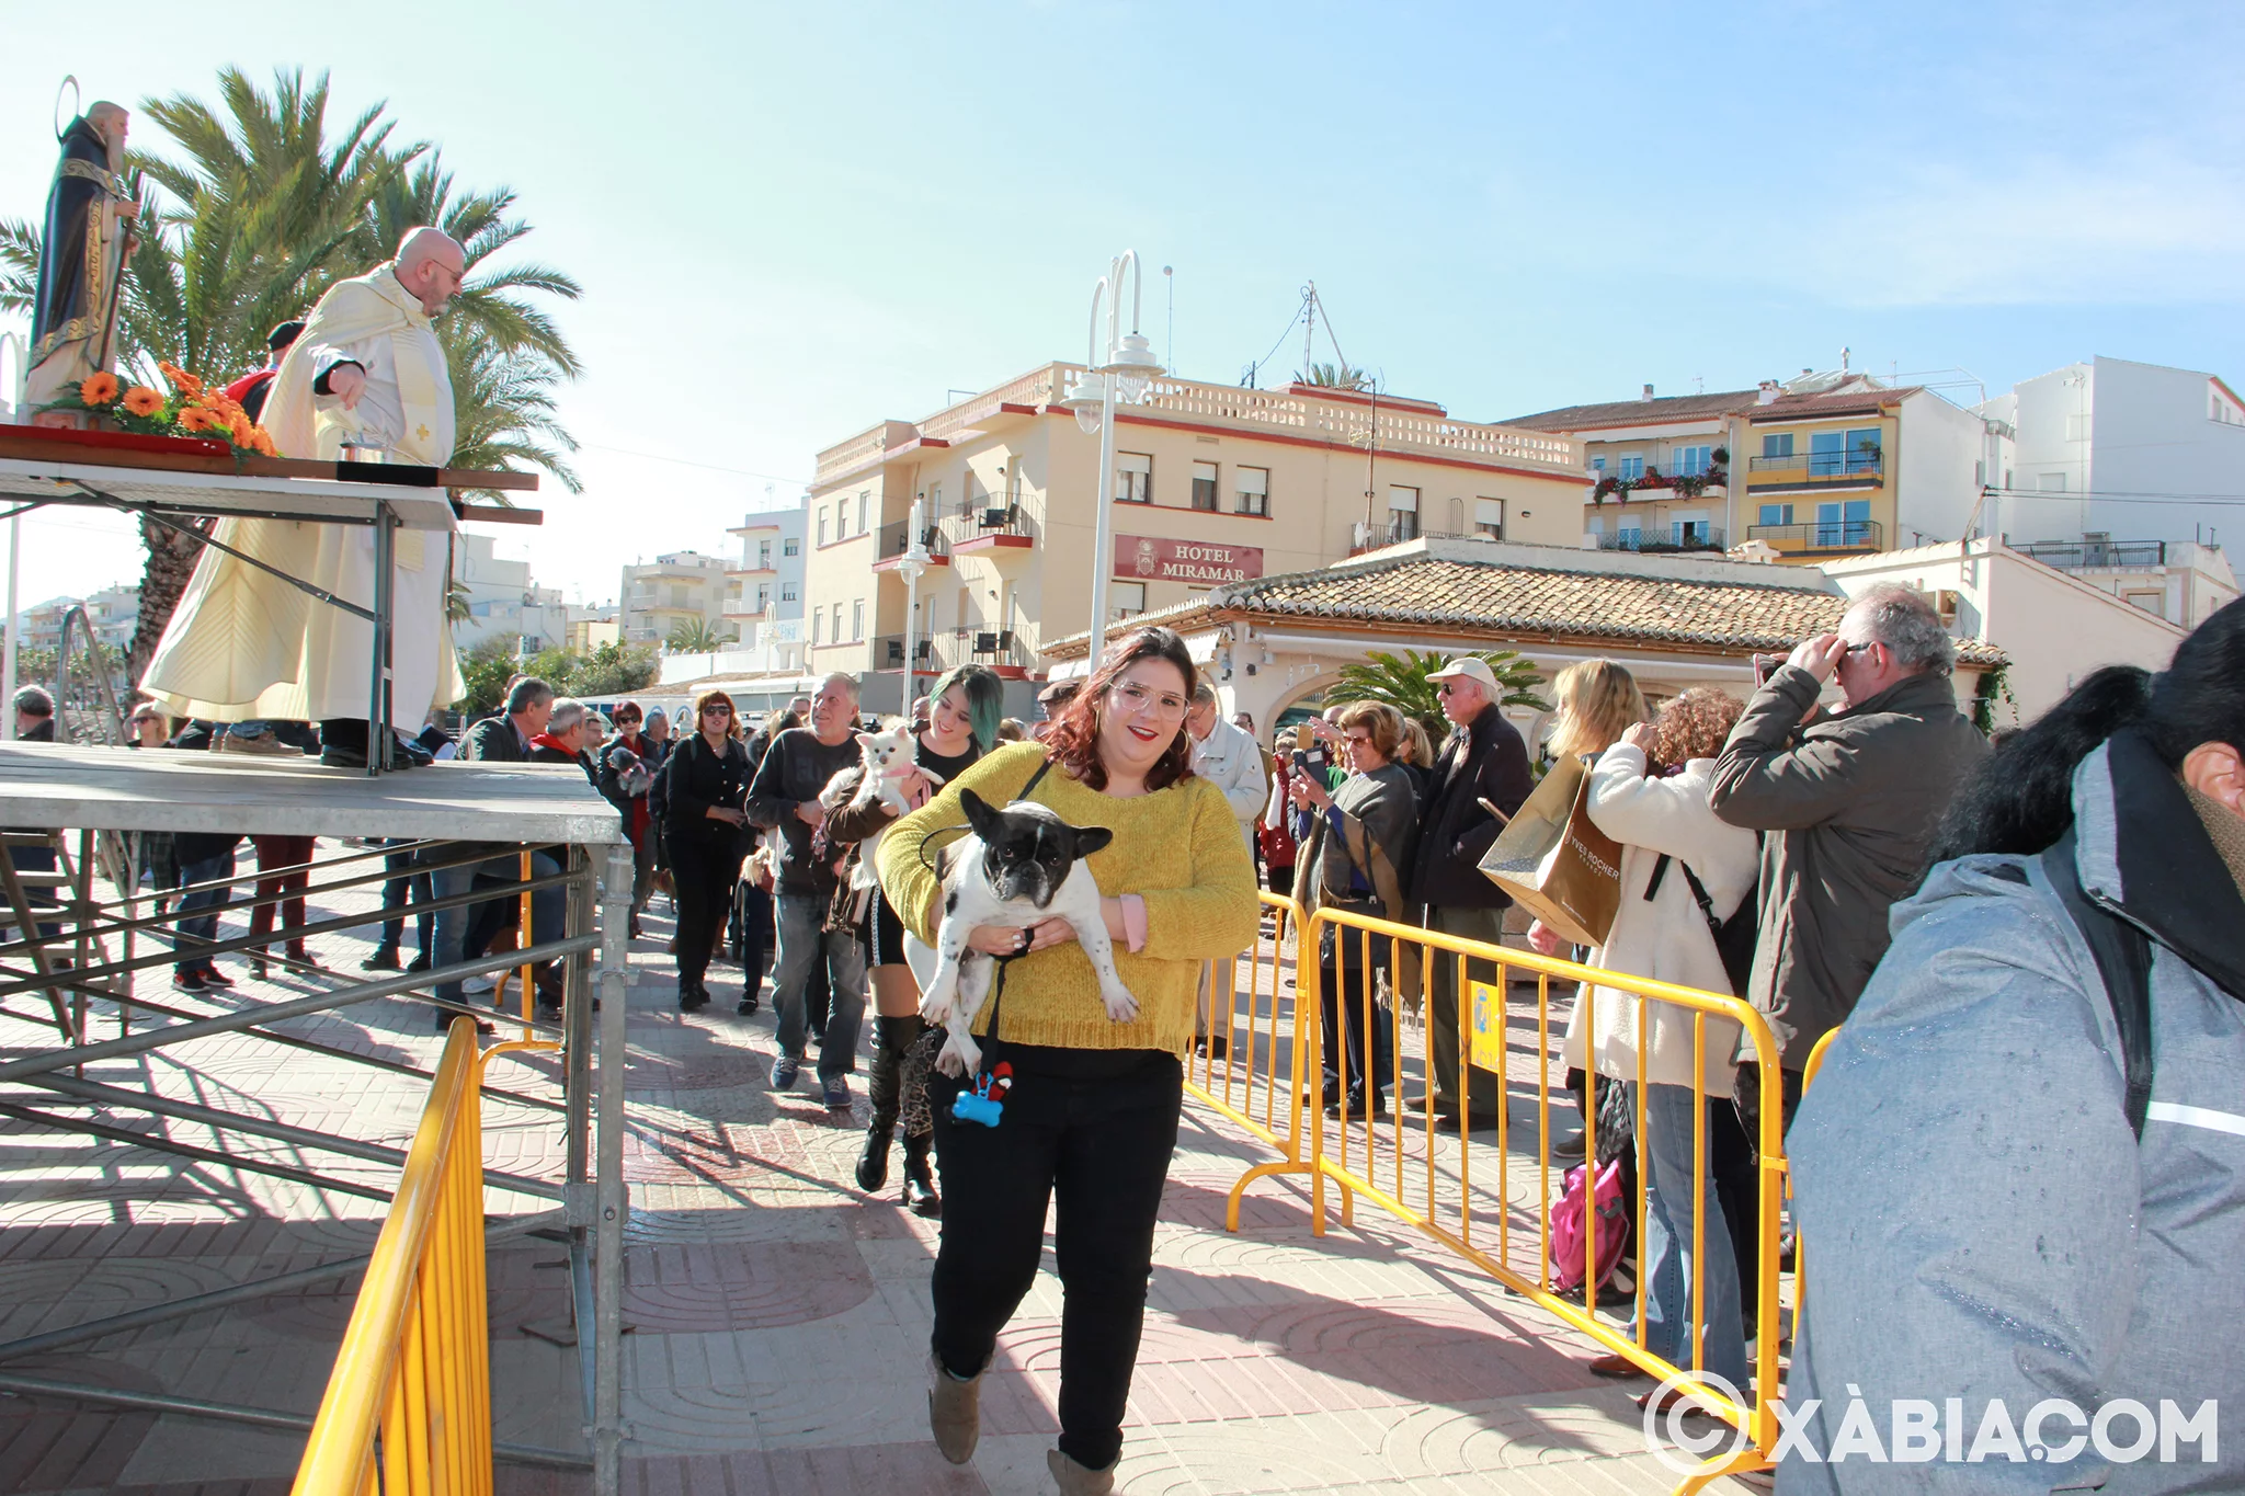
[[[1230,1003],[1224,1000],[1228,962],[1210,967],[1206,991],[1217,994],[1203,1003],[1201,1027],[1208,1034],[1224,1032],[1230,1043],[1219,1056],[1215,1047],[1197,1056],[1188,1072],[1190,1090],[1268,1142],[1280,1157],[1248,1169],[1230,1191],[1226,1225],[1239,1229],[1239,1202],[1255,1180],[1273,1175],[1307,1175],[1311,1191],[1311,1229],[1322,1236],[1327,1229],[1327,1184],[1340,1189],[1340,1220],[1354,1220],[1358,1195],[1378,1204],[1390,1216],[1419,1227],[1426,1236],[1491,1274],[1509,1290],[1531,1299],[1547,1312],[1580,1330],[1601,1348],[1628,1357],[1646,1375],[1679,1386],[1699,1406],[1731,1422],[1747,1433],[1740,1449],[1724,1453],[1699,1467],[1677,1489],[1695,1492],[1708,1480],[1726,1474],[1762,1469],[1767,1453],[1778,1440],[1776,1395],[1778,1395],[1778,1341],[1785,1326],[1780,1312],[1778,1229],[1780,1202],[1785,1193],[1783,1153],[1783,1086],[1778,1072],[1778,1045],[1769,1023],[1751,1005],[1729,994],[1695,991],[1650,978],[1616,971],[1596,971],[1572,960],[1495,946],[1486,942],[1448,935],[1441,931],[1394,924],[1387,920],[1349,911],[1320,908],[1316,915],[1302,913],[1293,899],[1264,893],[1264,906],[1273,913],[1271,931],[1257,940],[1255,949],[1239,958],[1246,980],[1233,967]],[[1320,967],[1318,953],[1334,933],[1343,960]],[[1291,942],[1286,938],[1293,938]],[[1369,942],[1372,960],[1347,960],[1356,940]],[[1378,942],[1387,942],[1385,958]],[[1365,949],[1365,946],[1356,946]],[[1293,958],[1293,994],[1282,996],[1282,964]],[[1325,982],[1334,978],[1340,991],[1334,996],[1334,1016],[1325,1009]],[[1515,978],[1531,978],[1533,994],[1513,998]],[[1598,1074],[1585,1065],[1587,1097],[1585,1115],[1598,1117],[1607,1088],[1632,1081],[1623,1095],[1632,1099],[1632,1135],[1637,1180],[1648,1178],[1646,1157],[1646,1025],[1648,1007],[1677,1009],[1688,1014],[1693,1050],[1693,1178],[1690,1193],[1690,1335],[1679,1337],[1682,1348],[1675,1359],[1657,1355],[1648,1346],[1648,1296],[1646,1276],[1650,1263],[1639,1258],[1637,1285],[1632,1294],[1630,1321],[1610,1323],[1596,1314],[1601,1301],[1612,1303],[1596,1290],[1580,1296],[1554,1292],[1554,1204],[1565,1193],[1565,1173],[1578,1160],[1551,1157],[1551,1095],[1563,1095],[1572,1112],[1576,1099],[1565,1092],[1563,1036],[1565,1025],[1554,1021],[1551,985],[1574,982],[1572,1023],[1585,1036],[1601,1029],[1598,1003],[1621,1000],[1628,1016],[1619,1025],[1605,1025],[1616,1038],[1616,1050],[1634,1050],[1634,1059],[1621,1065],[1623,1074]],[[1601,991],[1603,989],[1603,991]],[[1623,994],[1623,996],[1612,996]],[[1437,1012],[1437,1005],[1444,1012]],[[1345,1018],[1340,1014],[1347,1014]],[[1455,1023],[1453,1097],[1468,1095],[1470,1072],[1482,1074],[1479,1088],[1495,1086],[1500,1106],[1495,1124],[1475,1128],[1473,1139],[1493,1142],[1495,1148],[1470,1148],[1466,1130],[1437,1128],[1435,1115],[1435,1061],[1437,1029]],[[1711,1038],[1708,1029],[1722,1023]],[[1742,1303],[1753,1310],[1758,1335],[1749,1375],[1753,1386],[1738,1388],[1738,1397],[1708,1384],[1704,1375],[1702,1326],[1708,1323],[1706,1285],[1706,1231],[1711,1220],[1722,1222],[1720,1202],[1708,1193],[1711,1160],[1711,1115],[1708,1101],[1729,1106],[1729,1095],[1706,1088],[1706,1061],[1735,1043],[1729,1025],[1744,1034],[1740,1063],[1751,1074],[1747,1083],[1760,1090],[1758,1137],[1751,1144],[1751,1220],[1738,1231],[1735,1252],[1751,1247],[1753,1272],[1751,1292]],[[1329,1025],[1340,1029],[1329,1032]],[[1390,1038],[1392,1036],[1392,1038]],[[1365,1038],[1372,1038],[1369,1054]],[[1241,1043],[1244,1041],[1244,1043]],[[1625,1043],[1623,1043],[1625,1041]],[[1347,1050],[1356,1050],[1356,1070],[1374,1072],[1392,1106],[1374,1117],[1351,1115],[1345,1063]],[[1325,1070],[1327,1056],[1340,1099],[1327,1115]],[[1284,1061],[1284,1063],[1282,1063]],[[1720,1065],[1717,1065],[1720,1070]],[[1412,1083],[1417,1095],[1408,1095]],[[1408,1101],[1408,1110],[1405,1110]],[[1533,1101],[1533,1110],[1513,1117],[1515,1106]],[[1527,1133],[1527,1137],[1522,1137]],[[1596,1160],[1596,1128],[1587,1128],[1587,1160]],[[1477,1157],[1479,1153],[1479,1157]],[[1493,1175],[1493,1178],[1491,1178]],[[1589,1178],[1596,1180],[1592,1162]],[[1589,1191],[1585,1191],[1589,1193]],[[1634,1245],[1646,1238],[1646,1191],[1634,1198]],[[1711,1211],[1715,1211],[1711,1216]],[[1682,1218],[1682,1202],[1670,1204],[1670,1213]],[[1598,1231],[1583,1222],[1583,1265],[1578,1283],[1598,1283]],[[1724,1227],[1729,1229],[1729,1227]]]

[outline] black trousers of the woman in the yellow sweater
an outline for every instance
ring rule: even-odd
[[[995,1128],[952,1117],[961,1081],[929,1077],[943,1171],[932,1346],[959,1375],[990,1364],[1037,1281],[1044,1211],[1057,1202],[1060,1451],[1107,1469],[1122,1453],[1183,1068],[1152,1050],[1006,1045],[1004,1059],[1015,1077]]]

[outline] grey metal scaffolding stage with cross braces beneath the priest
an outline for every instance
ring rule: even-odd
[[[213,1034],[233,1034],[269,1045],[278,1079],[294,1052],[319,1052],[328,1059],[366,1065],[373,1077],[393,1077],[420,1088],[424,1070],[395,1059],[355,1054],[314,1038],[285,1034],[274,1025],[308,1014],[346,1009],[375,998],[418,998],[438,1007],[436,985],[458,982],[478,973],[503,973],[532,962],[561,962],[561,1018],[550,1023],[525,1016],[543,1038],[561,1043],[561,1099],[510,1090],[487,1090],[516,1103],[559,1110],[566,1137],[566,1166],[559,1182],[485,1171],[485,1184],[503,1191],[555,1200],[559,1209],[528,1218],[496,1220],[487,1240],[548,1236],[568,1245],[570,1308],[577,1328],[577,1359],[584,1373],[584,1431],[588,1456],[552,1449],[501,1447],[503,1460],[539,1465],[584,1465],[595,1471],[595,1489],[604,1496],[617,1489],[622,1456],[622,1252],[626,1222],[624,1191],[624,998],[626,998],[626,915],[631,904],[631,846],[622,839],[615,810],[602,801],[575,767],[559,765],[436,765],[406,774],[361,776],[348,769],[321,769],[310,760],[276,760],[233,754],[166,754],[112,747],[0,745],[0,825],[70,828],[83,852],[101,834],[132,832],[240,832],[285,837],[364,837],[386,846],[370,852],[305,864],[308,888],[256,895],[258,868],[236,877],[202,884],[218,904],[198,911],[153,908],[137,888],[101,886],[88,857],[76,866],[18,870],[29,848],[58,846],[54,832],[0,832],[0,1016],[40,1025],[54,1043],[34,1052],[0,1059],[0,1117],[99,1137],[164,1155],[222,1164],[233,1171],[265,1173],[308,1189],[388,1200],[361,1178],[339,1178],[305,1162],[274,1162],[220,1153],[166,1137],[166,1119],[186,1121],[251,1139],[269,1139],[296,1151],[328,1153],[391,1166],[404,1153],[388,1144],[339,1137],[335,1133],[292,1126],[274,1115],[242,1112],[202,1101],[157,1095],[148,1088],[114,1086],[85,1079],[85,1065],[150,1054]],[[543,850],[559,864],[557,872],[523,877],[528,852]],[[292,971],[323,991],[287,1000],[256,1000],[242,994],[193,994],[191,998],[150,1000],[135,994],[135,973],[162,971],[177,960],[184,917],[247,911],[283,897],[321,897],[341,890],[379,888],[397,877],[388,857],[411,852],[418,872],[480,868],[485,877],[469,893],[458,893],[413,913],[485,904],[489,899],[523,899],[543,888],[563,890],[563,926],[557,940],[534,942],[543,931],[523,929],[523,949],[462,960],[433,971],[350,980],[321,967]],[[604,857],[604,864],[595,859]],[[45,859],[34,859],[45,861]],[[63,864],[70,859],[63,857]],[[498,868],[507,877],[494,877]],[[180,890],[186,893],[186,890]],[[597,908],[597,917],[595,917]],[[352,913],[292,926],[287,938],[364,929],[382,911]],[[184,949],[207,955],[227,951],[263,951],[281,935],[254,935],[216,942],[186,940]],[[595,1003],[590,955],[599,951],[599,987]],[[287,964],[272,958],[276,964]],[[202,1005],[202,1007],[198,1007]],[[597,1032],[595,1032],[597,1007]],[[114,1036],[97,1038],[97,1027]],[[597,1088],[595,1088],[595,1063]],[[254,1095],[251,1095],[254,1101]],[[88,1108],[103,1112],[146,1112],[155,1119],[148,1133],[97,1121]],[[0,1175],[0,1193],[7,1180]],[[126,1314],[65,1326],[43,1335],[0,1343],[0,1391],[67,1395],[81,1402],[137,1406],[218,1417],[274,1429],[308,1426],[308,1417],[278,1409],[247,1409],[189,1397],[150,1397],[114,1388],[81,1386],[52,1377],[22,1377],[9,1364],[65,1346],[81,1346],[126,1330],[166,1323],[186,1314],[227,1310],[272,1294],[296,1292],[310,1283],[343,1278],[366,1265],[364,1256],[337,1258],[310,1269],[287,1272],[218,1292],[193,1294]]]

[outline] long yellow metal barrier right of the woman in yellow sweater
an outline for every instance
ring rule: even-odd
[[[1273,895],[1264,895],[1266,904],[1277,902]],[[1291,904],[1291,899],[1286,899]],[[1767,1467],[1767,1453],[1778,1440],[1778,1417],[1776,1417],[1776,1395],[1778,1395],[1778,1339],[1780,1339],[1780,1292],[1778,1292],[1778,1213],[1780,1198],[1785,1189],[1785,1142],[1783,1142],[1783,1081],[1778,1072],[1778,1045],[1769,1032],[1769,1023],[1751,1005],[1738,1000],[1729,994],[1695,991],[1688,987],[1675,987],[1668,982],[1657,982],[1650,978],[1637,978],[1621,971],[1598,971],[1583,967],[1572,960],[1558,960],[1540,955],[1536,951],[1515,951],[1511,946],[1493,946],[1475,940],[1464,940],[1459,935],[1448,935],[1441,931],[1419,929],[1410,924],[1394,924],[1387,920],[1376,920],[1367,915],[1356,915],[1347,911],[1318,911],[1307,922],[1300,920],[1295,911],[1298,926],[1298,967],[1295,967],[1295,1000],[1293,1000],[1293,1079],[1289,1077],[1289,1115],[1284,1128],[1277,1126],[1273,1117],[1264,1126],[1239,1117],[1237,1110],[1217,1101],[1206,1086],[1194,1086],[1197,1095],[1212,1101],[1226,1115],[1246,1121],[1264,1139],[1273,1142],[1284,1151],[1286,1157],[1273,1164],[1257,1164],[1246,1171],[1241,1180],[1233,1186],[1233,1204],[1228,1213],[1230,1229],[1239,1227],[1239,1195],[1257,1178],[1275,1173],[1309,1173],[1311,1175],[1311,1229],[1325,1234],[1325,1182],[1331,1180],[1340,1184],[1340,1218],[1347,1225],[1354,1218],[1354,1198],[1365,1195],[1374,1204],[1383,1207],[1399,1220],[1405,1220],[1430,1238],[1459,1254],[1461,1258],[1475,1263],[1486,1274],[1511,1287],[1513,1292],[1531,1299],[1547,1312],[1556,1314],[1565,1323],[1574,1326],[1592,1341],[1628,1357],[1648,1375],[1664,1382],[1675,1382],[1686,1395],[1690,1395],[1704,1409],[1729,1420],[1733,1426],[1747,1433],[1747,1444],[1735,1453],[1717,1456],[1708,1465],[1699,1467],[1693,1476],[1679,1485],[1679,1492],[1695,1492],[1708,1480],[1726,1474],[1738,1474],[1747,1469]],[[1338,1124],[1327,1124],[1327,1110],[1320,1106],[1316,1083],[1322,1081],[1325,1072],[1325,1050],[1327,1034],[1322,1021],[1322,971],[1318,962],[1320,938],[1327,929],[1336,931],[1363,931],[1365,938],[1383,935],[1392,942],[1392,960],[1385,962],[1399,973],[1399,982],[1387,987],[1385,982],[1374,982],[1374,969],[1383,962],[1367,960],[1356,964],[1336,962],[1336,976],[1343,980],[1354,980],[1354,991],[1336,994],[1336,1012],[1349,1012],[1356,1023],[1343,1021],[1343,1036],[1351,1047],[1358,1047],[1363,1059],[1358,1065],[1369,1072],[1378,1063],[1378,1045],[1374,1043],[1378,1034],[1381,1009],[1394,1023],[1392,1054],[1381,1065],[1387,1070],[1383,1079],[1394,1090],[1396,1110],[1385,1119],[1381,1117],[1349,1117],[1349,1092],[1345,1077],[1349,1072],[1347,1063],[1336,1063],[1334,1070],[1343,1077]],[[1518,1077],[1509,1074],[1513,1041],[1511,1029],[1518,1018],[1509,1003],[1509,982],[1515,971],[1536,973],[1536,1005],[1533,1005],[1533,1088],[1536,1088],[1536,1142],[1533,1153],[1515,1164],[1513,1160],[1513,1126],[1511,1108],[1500,1106],[1497,1110],[1497,1137],[1495,1137],[1495,1191],[1493,1202],[1486,1182],[1477,1186],[1473,1178],[1473,1151],[1468,1148],[1468,1128],[1459,1128],[1455,1153],[1450,1162],[1444,1164],[1446,1153],[1441,1135],[1435,1128],[1435,1050],[1432,1034],[1421,1027],[1421,1041],[1426,1043],[1419,1074],[1426,1079],[1426,1097],[1417,1115],[1405,1117],[1401,1110],[1403,1099],[1403,1018],[1419,996],[1419,980],[1408,960],[1405,951],[1417,951],[1419,969],[1432,976],[1435,962],[1453,962],[1448,989],[1455,994],[1455,1018],[1457,1018],[1457,1077],[1455,1097],[1464,1106],[1468,1092],[1468,1077],[1475,1068],[1495,1070],[1502,1092],[1509,1101],[1511,1088]],[[1484,971],[1493,969],[1495,980],[1477,976],[1468,960]],[[1259,951],[1257,951],[1259,967]],[[1648,1023],[1646,1005],[1661,1003],[1668,1007],[1679,1007],[1693,1014],[1693,1095],[1695,1095],[1695,1126],[1693,1126],[1693,1164],[1695,1164],[1695,1186],[1690,1200],[1690,1234],[1693,1234],[1693,1283],[1690,1283],[1690,1314],[1688,1314],[1688,1343],[1690,1355],[1688,1366],[1675,1366],[1646,1348],[1648,1319],[1646,1319],[1646,1272],[1639,1263],[1637,1281],[1637,1312],[1634,1312],[1634,1335],[1623,1335],[1612,1326],[1603,1323],[1596,1312],[1596,1229],[1592,1220],[1585,1220],[1585,1290],[1583,1303],[1572,1303],[1569,1299],[1549,1290],[1549,1263],[1551,1263],[1551,1204],[1556,1198],[1554,1184],[1558,1175],[1565,1173],[1565,1164],[1558,1173],[1551,1166],[1551,1070],[1554,1070],[1554,1032],[1551,1032],[1551,980],[1576,982],[1576,1025],[1585,1038],[1585,1074],[1589,1088],[1587,1106],[1587,1130],[1585,1130],[1585,1162],[1596,1157],[1596,1115],[1598,1095],[1603,1086],[1619,1083],[1612,1077],[1601,1077],[1596,1072],[1596,989],[1625,991],[1634,998],[1634,1047],[1637,1047],[1637,1162],[1639,1162],[1639,1243],[1643,1243],[1646,1207],[1643,1207],[1643,1180],[1646,1175],[1646,1052]],[[1432,985],[1426,987],[1432,991]],[[1273,1003],[1273,1009],[1277,1005]],[[1421,1009],[1428,1018],[1432,998],[1428,998]],[[1250,1023],[1259,1018],[1259,1009],[1250,1003]],[[1704,1234],[1708,1222],[1708,1207],[1720,1209],[1720,1202],[1711,1202],[1706,1195],[1706,1173],[1708,1173],[1708,1121],[1706,1121],[1706,1099],[1704,1090],[1704,1068],[1706,1068],[1706,1027],[1708,1018],[1731,1018],[1744,1032],[1744,1047],[1751,1054],[1751,1063],[1760,1072],[1762,1106],[1760,1106],[1760,1137],[1751,1139],[1756,1144],[1758,1169],[1756,1169],[1756,1220],[1751,1231],[1740,1229],[1740,1238],[1756,1240],[1758,1249],[1758,1272],[1756,1272],[1756,1355],[1751,1364],[1753,1388],[1738,1388],[1744,1402],[1726,1397],[1722,1391],[1702,1379],[1704,1375],[1704,1348],[1702,1348],[1702,1326],[1706,1323],[1706,1283],[1704,1283]],[[1349,1032],[1354,1029],[1354,1032]],[[1273,1032],[1268,1036],[1271,1052],[1277,1050],[1275,1034],[1275,1012]],[[1479,1063],[1477,1063],[1479,1061]],[[1212,1065],[1203,1063],[1203,1070]],[[1203,1077],[1206,1081],[1208,1077]],[[1484,1081],[1486,1086],[1486,1081]],[[1304,1101],[1307,1088],[1307,1101]],[[1309,1108],[1307,1128],[1302,1124],[1302,1110]],[[1307,1130],[1307,1144],[1304,1144]],[[1383,1137],[1385,1133],[1385,1137]],[[1486,1166],[1486,1164],[1484,1164]],[[1596,1178],[1596,1166],[1589,1169],[1589,1180]],[[1520,1186],[1515,1198],[1515,1182]],[[1482,1193],[1484,1204],[1475,1204],[1475,1195]],[[1488,1240],[1488,1231],[1495,1231],[1495,1240]],[[1479,1236],[1479,1240],[1477,1240]],[[1515,1236],[1533,1238],[1533,1265],[1524,1258],[1527,1243],[1520,1243],[1515,1256]],[[1495,1247],[1495,1252],[1486,1249]]]

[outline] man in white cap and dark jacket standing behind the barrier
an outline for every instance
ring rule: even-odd
[[[1426,929],[1461,935],[1486,944],[1504,938],[1504,911],[1511,899],[1482,872],[1482,855],[1497,839],[1497,819],[1482,801],[1506,816],[1529,798],[1529,749],[1520,729],[1504,720],[1502,691],[1486,659],[1466,655],[1435,671],[1441,691],[1441,715],[1450,718],[1450,738],[1435,760],[1432,792],[1419,807],[1419,846],[1412,852],[1412,904],[1426,906]],[[1504,1079],[1488,1070],[1470,1070],[1468,1097],[1457,1095],[1457,962],[1444,955],[1428,960],[1428,1043],[1435,1065],[1435,1110],[1444,1126],[1495,1126],[1504,1110]],[[1468,962],[1468,982],[1495,982],[1493,962]]]

